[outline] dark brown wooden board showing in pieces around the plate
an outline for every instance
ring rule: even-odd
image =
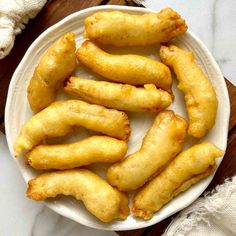
[[[15,46],[11,54],[3,60],[0,60],[0,130],[4,131],[4,109],[9,82],[30,44],[45,29],[63,19],[65,16],[84,8],[106,4],[135,6],[131,1],[125,0],[49,0],[38,16],[29,22],[23,33],[16,37]],[[227,80],[226,83],[231,100],[228,147],[224,160],[206,191],[209,191],[217,184],[222,183],[225,178],[236,174],[236,88]],[[158,236],[164,232],[170,221],[171,217],[145,229],[118,233],[122,236]]]

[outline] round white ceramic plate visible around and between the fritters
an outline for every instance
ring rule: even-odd
[[[97,11],[110,11],[110,10],[119,10],[123,12],[129,12],[132,14],[143,14],[151,12],[151,10],[145,8],[136,8],[136,7],[124,7],[124,6],[99,6],[88,8],[61,20],[54,26],[47,29],[43,32],[30,46],[26,52],[21,63],[17,67],[9,87],[6,111],[5,111],[5,125],[6,125],[6,134],[7,141],[10,148],[10,152],[13,156],[13,141],[15,140],[17,134],[19,133],[20,127],[25,123],[31,116],[32,112],[30,110],[26,90],[30,78],[32,76],[33,70],[37,65],[40,56],[45,52],[45,50],[54,42],[57,38],[68,31],[73,31],[76,33],[76,42],[77,47],[81,44],[83,39],[83,22],[84,19],[94,12]],[[183,16],[184,17],[184,16]],[[181,48],[194,51],[195,58],[201,68],[205,71],[208,78],[211,80],[219,101],[219,107],[217,112],[216,124],[214,128],[207,134],[203,140],[208,140],[216,144],[221,149],[226,149],[227,143],[227,134],[228,134],[228,122],[230,114],[229,106],[229,96],[226,88],[224,78],[219,70],[218,65],[216,64],[214,58],[209,53],[204,44],[190,31],[185,33],[183,36],[178,39],[173,40],[175,44],[179,45]],[[134,49],[114,49],[109,48],[109,51],[113,53],[138,53],[146,55],[152,58],[158,58],[157,56],[157,46],[147,47],[146,49],[134,48]],[[84,75],[84,77],[97,78],[101,79],[98,76],[88,72],[82,66],[79,66],[76,75]],[[181,92],[176,89],[176,82],[174,83],[174,94],[175,101],[171,105],[170,109],[173,109],[177,114],[186,117],[186,111],[184,108],[184,101]],[[64,99],[66,96],[61,93],[58,96],[60,99]],[[147,113],[129,113],[132,127],[132,135],[129,141],[129,151],[128,153],[133,153],[139,149],[142,137],[145,135],[147,129],[151,126],[155,114]],[[86,131],[85,129],[78,129],[76,133],[73,133],[70,136],[65,138],[54,139],[53,142],[71,142],[72,140],[78,140],[88,135],[91,135],[92,132]],[[194,139],[188,139],[186,146],[189,146],[197,142]],[[39,172],[34,171],[29,166],[26,166],[24,163],[23,157],[17,159],[14,158],[17,162],[18,167],[25,179],[35,177]],[[222,158],[218,159],[218,164],[222,161]],[[104,176],[105,167],[102,165],[93,165],[92,167],[95,171],[99,169],[99,174]],[[101,171],[102,169],[102,171]],[[74,200],[70,197],[58,197],[53,201],[47,201],[46,205],[58,212],[59,214],[66,216],[72,220],[75,220],[83,225],[104,229],[104,230],[131,230],[138,229],[153,225],[168,216],[176,213],[177,211],[185,208],[191,204],[198,196],[206,189],[210,181],[212,180],[213,175],[204,179],[200,183],[191,187],[185,193],[182,193],[165,207],[163,207],[159,212],[157,212],[153,218],[149,221],[143,221],[134,218],[130,215],[125,221],[114,221],[110,224],[101,223],[94,216],[92,216],[83,206],[82,203]]]

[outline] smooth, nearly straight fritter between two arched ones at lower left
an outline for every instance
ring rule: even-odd
[[[39,145],[26,154],[26,160],[35,169],[72,169],[96,162],[116,162],[127,149],[122,140],[92,136],[72,144]]]

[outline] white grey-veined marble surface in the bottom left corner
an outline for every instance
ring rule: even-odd
[[[26,184],[0,132],[0,236],[116,236],[90,229],[25,197]]]

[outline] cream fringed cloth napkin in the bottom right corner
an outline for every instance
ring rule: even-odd
[[[235,236],[236,176],[183,210],[163,236]]]

